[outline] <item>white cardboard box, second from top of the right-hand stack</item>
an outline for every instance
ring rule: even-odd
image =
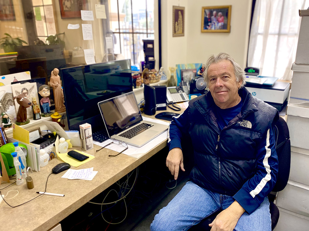
[[[293,78],[289,103],[299,107],[309,107],[309,65],[292,65]]]

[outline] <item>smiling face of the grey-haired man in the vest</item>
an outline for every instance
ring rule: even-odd
[[[234,107],[239,103],[238,89],[234,68],[230,61],[212,63],[208,68],[208,87],[216,105],[222,109]]]

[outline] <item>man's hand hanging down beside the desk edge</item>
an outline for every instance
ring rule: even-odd
[[[173,148],[168,153],[166,158],[166,167],[170,170],[171,174],[174,176],[174,179],[177,180],[179,167],[182,171],[184,170],[184,156],[180,148]]]

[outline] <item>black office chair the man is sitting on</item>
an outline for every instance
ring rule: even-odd
[[[290,175],[290,162],[291,162],[291,144],[290,134],[286,121],[283,118],[279,118],[275,124],[275,137],[276,137],[276,151],[278,155],[278,176],[275,187],[272,192],[279,192],[286,187],[286,184]],[[276,227],[279,219],[279,210],[273,203],[275,199],[275,193],[269,193],[269,211],[271,216],[271,228]],[[218,211],[209,217],[206,217],[199,224],[194,225],[189,231],[208,231],[211,229],[209,224],[216,218],[221,211]]]

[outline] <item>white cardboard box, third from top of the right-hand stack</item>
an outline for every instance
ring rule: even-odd
[[[291,146],[309,149],[309,108],[288,104],[286,114]]]

